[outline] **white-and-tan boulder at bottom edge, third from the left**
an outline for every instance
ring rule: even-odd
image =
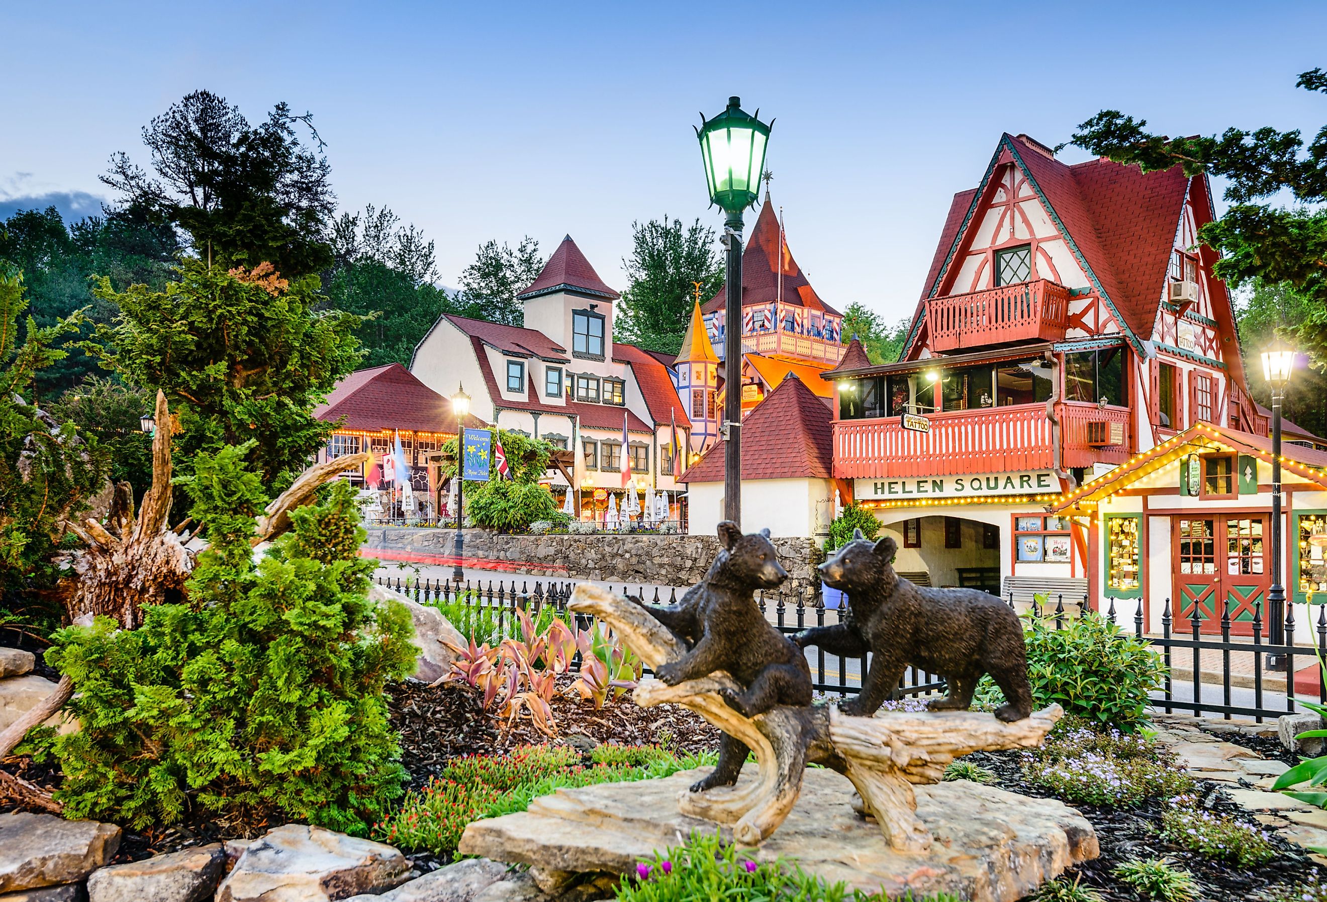
[[[410,862],[382,842],[287,824],[255,840],[216,890],[216,902],[334,902],[382,893]]]

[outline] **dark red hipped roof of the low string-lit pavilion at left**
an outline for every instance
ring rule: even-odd
[[[417,379],[401,363],[357,370],[336,383],[325,405],[313,415],[337,422],[342,428],[399,428],[419,432],[456,432],[451,401]],[[467,415],[466,426],[482,427],[483,420]]]

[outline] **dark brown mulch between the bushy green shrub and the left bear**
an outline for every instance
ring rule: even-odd
[[[630,695],[598,711],[579,695],[565,694],[573,676],[557,680],[553,710],[556,735],[535,728],[528,714],[507,724],[498,706],[483,710],[483,694],[464,683],[429,686],[406,680],[389,688],[391,726],[401,734],[401,763],[410,771],[410,788],[422,787],[446,763],[460,755],[500,755],[518,745],[661,744],[682,752],[715,751],[719,731],[703,718],[675,704],[642,708]]]

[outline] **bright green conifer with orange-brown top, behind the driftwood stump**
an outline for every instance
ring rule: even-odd
[[[102,279],[97,296],[121,313],[93,350],[126,382],[166,393],[182,458],[252,439],[263,484],[283,488],[332,431],[314,407],[360,361],[360,318],[314,313],[317,285],[268,264],[226,271],[194,259],[161,292],[117,292]]]

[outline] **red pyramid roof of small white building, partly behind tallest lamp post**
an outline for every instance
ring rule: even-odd
[[[790,375],[742,420],[742,479],[829,479],[833,458],[831,413],[796,375]],[[683,483],[723,482],[723,443]]]

